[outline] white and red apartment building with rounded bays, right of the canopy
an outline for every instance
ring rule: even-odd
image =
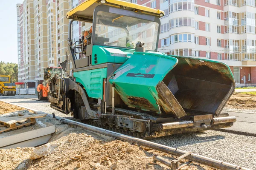
[[[161,52],[224,62],[236,83],[256,84],[255,1],[156,0],[147,6],[166,13]]]

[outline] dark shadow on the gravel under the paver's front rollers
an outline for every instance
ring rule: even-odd
[[[155,139],[148,139],[151,142],[164,144],[169,147],[182,147],[192,144],[211,142],[216,140],[225,139],[225,136],[214,135],[214,136],[201,136],[204,132],[198,133],[184,133],[170,136],[163,136]]]

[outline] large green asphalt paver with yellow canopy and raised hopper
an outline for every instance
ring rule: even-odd
[[[49,81],[51,107],[141,138],[232,126],[236,117],[221,113],[235,89],[230,68],[157,52],[163,15],[121,0],[87,0],[67,12],[68,52],[61,66],[67,71],[72,62],[73,74]],[[90,40],[73,42],[74,21],[93,26]]]

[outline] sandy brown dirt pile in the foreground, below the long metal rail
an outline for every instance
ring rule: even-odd
[[[85,133],[70,133],[48,143],[54,150],[47,156],[31,160],[33,147],[0,150],[0,169],[9,170],[167,170],[163,164],[153,164],[153,155],[166,159],[172,156],[119,140],[103,141]],[[214,170],[190,164],[186,170]]]

